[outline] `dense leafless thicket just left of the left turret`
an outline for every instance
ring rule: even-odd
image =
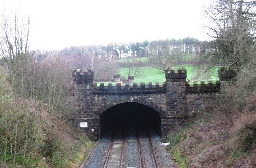
[[[26,82],[28,96],[47,104],[48,108],[65,111],[70,64],[59,55],[50,54],[38,63],[35,59],[28,69]]]

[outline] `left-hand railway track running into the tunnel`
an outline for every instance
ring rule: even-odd
[[[123,132],[122,132],[123,131]],[[122,168],[125,151],[124,130],[115,132],[108,149],[107,159],[104,168]]]

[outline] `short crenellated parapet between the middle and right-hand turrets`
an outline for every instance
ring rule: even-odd
[[[220,91],[220,81],[194,81],[192,84],[190,81],[186,82],[186,93],[216,93]]]

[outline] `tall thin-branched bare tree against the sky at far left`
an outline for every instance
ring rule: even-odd
[[[29,62],[28,36],[30,18],[20,19],[18,14],[2,13],[0,23],[0,56],[9,70],[10,82],[19,95],[24,96],[24,80]]]

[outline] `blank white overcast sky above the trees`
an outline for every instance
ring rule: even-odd
[[[30,15],[30,50],[184,37],[208,40],[203,5],[209,0],[0,0],[1,8],[10,1],[12,9],[19,6]]]

